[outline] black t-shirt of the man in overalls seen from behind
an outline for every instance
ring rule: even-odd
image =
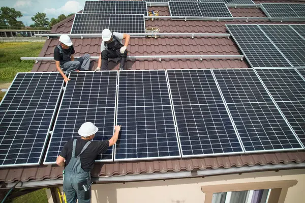
[[[75,157],[79,155],[85,144],[89,140],[77,139],[75,148]],[[105,141],[92,141],[87,149],[80,155],[81,168],[85,171],[89,171],[93,168],[94,161],[99,154],[103,154],[109,147],[109,140]],[[72,157],[73,139],[69,140],[60,152],[60,156],[66,159],[66,166]]]

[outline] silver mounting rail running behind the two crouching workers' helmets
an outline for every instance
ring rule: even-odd
[[[38,37],[60,37],[62,34],[36,34]],[[102,34],[68,34],[71,38],[102,38]],[[221,34],[221,33],[131,33],[131,37],[230,37],[230,34]]]

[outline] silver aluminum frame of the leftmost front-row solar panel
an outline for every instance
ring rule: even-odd
[[[3,97],[2,101],[0,102],[0,106],[2,104],[2,102],[4,101],[6,95],[8,94],[8,92],[10,91],[11,89],[11,86],[13,85],[16,77],[18,74],[36,74],[37,72],[19,72],[16,74],[15,78],[13,79],[12,83],[10,84],[10,87],[8,89],[8,91],[6,92],[5,96]],[[50,74],[59,74],[58,72],[43,72],[43,73],[50,73]],[[42,74],[43,74],[42,73]],[[0,168],[2,167],[15,167],[15,166],[35,166],[35,165],[39,165],[41,163],[41,159],[42,159],[42,156],[44,154],[44,151],[45,151],[45,148],[46,148],[46,144],[47,144],[47,140],[48,140],[48,137],[50,135],[50,131],[51,131],[51,127],[52,127],[52,123],[54,121],[54,116],[55,116],[55,112],[56,112],[56,109],[58,108],[58,104],[59,104],[59,98],[60,98],[60,95],[62,95],[62,92],[63,92],[63,86],[64,86],[64,78],[63,78],[63,83],[62,83],[62,87],[60,89],[60,93],[58,94],[58,97],[57,97],[57,102],[56,102],[56,105],[55,105],[55,108],[53,109],[53,114],[52,114],[52,119],[51,119],[51,122],[50,122],[50,125],[49,125],[49,128],[48,128],[48,133],[46,135],[46,138],[45,138],[45,141],[44,141],[44,144],[43,144],[43,148],[42,148],[42,151],[41,151],[41,155],[39,157],[39,161],[37,163],[31,163],[31,164],[26,164],[26,163],[23,163],[23,164],[7,164],[7,165],[0,165]],[[14,110],[9,110],[9,111],[14,111]],[[19,110],[16,110],[16,111],[19,111]],[[25,110],[27,111],[27,110]]]

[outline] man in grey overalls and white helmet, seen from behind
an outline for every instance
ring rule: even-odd
[[[114,134],[109,140],[92,141],[98,128],[91,122],[81,125],[78,134],[79,139],[68,141],[57,157],[56,164],[65,166],[64,192],[67,203],[90,202],[91,199],[91,178],[90,170],[94,166],[94,161],[99,154],[107,151],[108,147],[115,144],[121,126],[114,127]]]

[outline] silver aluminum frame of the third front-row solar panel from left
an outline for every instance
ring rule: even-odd
[[[160,71],[160,70],[133,70],[134,72],[143,72],[143,71]],[[165,71],[165,70],[163,70]],[[116,116],[115,116],[115,125],[117,125],[117,109],[118,109],[118,89],[119,89],[119,74],[120,72],[130,72],[130,70],[122,70],[122,71],[119,71],[118,72],[118,76],[117,76],[117,79],[118,79],[118,82],[117,82],[117,97],[116,97]],[[169,94],[169,97],[170,97],[170,102],[171,102],[171,110],[172,110],[172,117],[173,117],[173,122],[174,122],[174,127],[175,127],[175,133],[176,133],[176,138],[177,138],[177,146],[178,146],[178,149],[179,149],[179,156],[168,156],[168,157],[154,157],[154,158],[151,158],[151,157],[146,157],[146,158],[130,158],[130,159],[116,159],[115,158],[115,152],[116,152],[116,144],[114,144],[114,161],[135,161],[135,160],[161,160],[161,159],[178,159],[178,158],[181,158],[181,148],[180,148],[180,139],[179,139],[179,136],[178,136],[178,133],[177,133],[177,123],[176,123],[176,119],[175,119],[175,115],[174,115],[174,110],[173,110],[173,105],[172,105],[172,100],[171,100],[171,93],[170,93],[170,89],[169,89],[169,83],[168,83],[168,78],[167,78],[167,72],[165,71],[165,76],[166,76],[166,82],[167,82],[167,90],[168,90],[168,94]]]

